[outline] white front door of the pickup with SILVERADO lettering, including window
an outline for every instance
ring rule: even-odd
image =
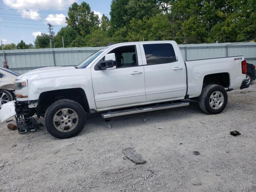
[[[114,46],[106,54],[115,54],[116,67],[100,70],[99,62],[91,67],[97,109],[146,102],[144,68],[138,50],[138,43]]]

